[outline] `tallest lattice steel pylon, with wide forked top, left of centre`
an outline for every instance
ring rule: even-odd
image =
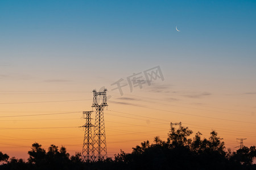
[[[102,92],[93,90],[93,105],[96,109],[94,134],[93,134],[93,159],[105,160],[107,158],[106,134],[104,122],[104,108],[108,106],[106,101],[106,88]]]

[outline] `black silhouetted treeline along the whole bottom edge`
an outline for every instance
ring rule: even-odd
[[[202,139],[200,132],[189,138],[191,134],[182,126],[171,128],[167,141],[156,137],[154,143],[144,141],[129,154],[121,150],[98,162],[82,162],[80,153],[70,156],[65,147],[51,145],[46,151],[34,143],[27,161],[0,152],[0,169],[256,169],[255,146],[232,152],[216,131],[208,139]]]

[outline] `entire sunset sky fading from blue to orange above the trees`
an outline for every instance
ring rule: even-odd
[[[82,112],[104,87],[108,156],[166,140],[170,122],[255,145],[255,16],[255,1],[2,0],[0,151],[81,152]]]

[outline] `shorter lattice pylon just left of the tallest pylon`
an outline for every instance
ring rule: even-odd
[[[82,145],[82,161],[93,161],[93,137],[92,137],[92,118],[90,115],[93,111],[82,112],[82,117],[86,120],[84,132],[84,143]]]

